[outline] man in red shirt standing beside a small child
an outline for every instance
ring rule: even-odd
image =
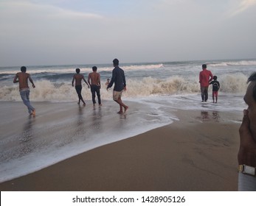
[[[202,102],[207,102],[208,99],[208,87],[209,82],[212,81],[212,72],[207,70],[207,65],[202,65],[203,71],[199,73],[199,83],[201,88],[201,99]]]

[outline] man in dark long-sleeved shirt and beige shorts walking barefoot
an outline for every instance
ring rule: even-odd
[[[128,110],[128,106],[122,103],[121,99],[122,91],[126,90],[125,72],[122,70],[122,68],[119,67],[119,60],[114,59],[113,65],[114,69],[112,71],[111,81],[108,84],[107,90],[108,88],[111,88],[111,86],[114,84],[113,100],[120,105],[120,111],[118,113],[122,114],[122,107],[124,107],[125,112]]]

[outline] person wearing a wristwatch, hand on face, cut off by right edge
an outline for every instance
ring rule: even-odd
[[[256,72],[248,78],[248,82],[243,97],[248,108],[243,110],[239,128],[238,191],[256,191]]]

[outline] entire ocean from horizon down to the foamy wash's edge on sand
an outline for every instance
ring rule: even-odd
[[[204,63],[220,82],[218,104],[212,103],[212,86],[208,102],[201,103],[198,74]],[[256,71],[256,60],[120,62],[127,81],[122,100],[129,106],[128,113],[120,116],[117,115],[117,103],[112,101],[112,91],[105,89],[113,65],[95,65],[101,77],[103,101],[103,107],[96,110],[85,83],[82,90],[86,101],[84,108],[77,106],[77,94],[72,87],[75,68],[80,68],[80,74],[87,79],[94,65],[26,65],[35,82],[35,88],[30,88],[30,101],[37,111],[35,118],[28,118],[18,84],[13,84],[20,67],[0,67],[0,182],[179,121],[175,116],[179,109],[200,111],[198,122],[204,121],[206,115],[207,118],[220,118],[225,111],[242,113],[246,108],[243,102],[246,80]],[[228,117],[221,121],[241,123],[239,119]]]

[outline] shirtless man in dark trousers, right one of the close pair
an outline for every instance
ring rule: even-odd
[[[100,74],[97,73],[97,66],[92,67],[92,71],[88,76],[88,82],[91,86],[91,96],[92,96],[92,103],[96,104],[95,101],[95,93],[97,93],[98,103],[99,106],[101,106],[101,100],[100,100]]]

